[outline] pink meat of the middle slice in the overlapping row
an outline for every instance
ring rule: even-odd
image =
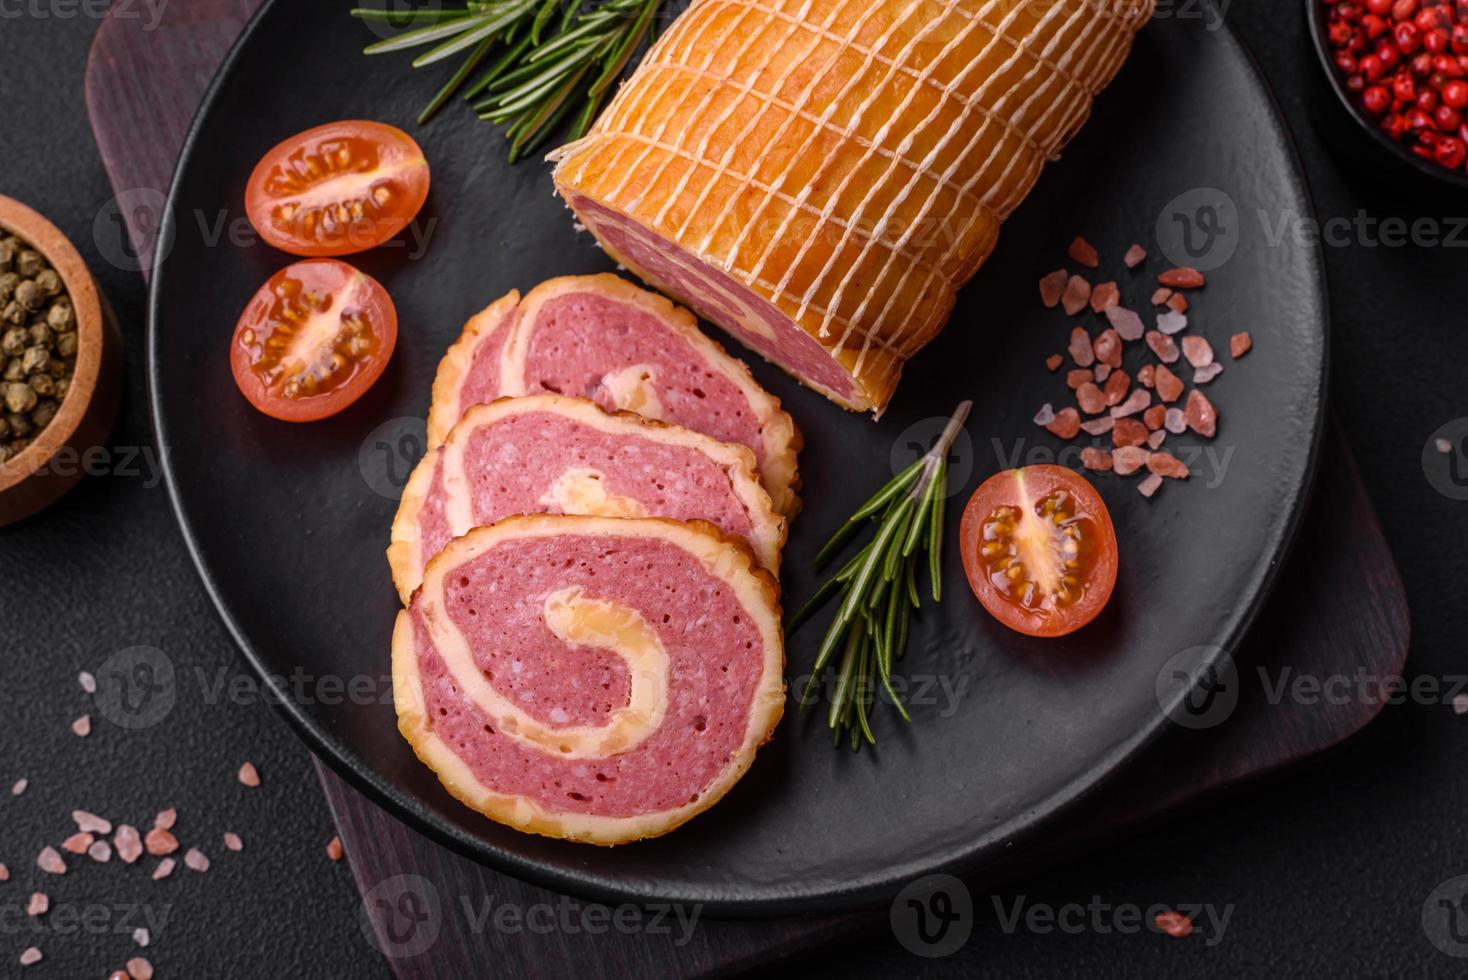
[[[480,425],[464,446],[476,525],[512,513],[559,513],[542,503],[556,477],[573,468],[596,469],[606,491],[631,497],[647,513],[678,521],[702,519],[727,534],[750,538],[753,522],[724,469],[687,446],[605,433],[555,412],[506,415]],[[423,563],[443,550],[452,533],[443,512],[442,471],[423,500]]]

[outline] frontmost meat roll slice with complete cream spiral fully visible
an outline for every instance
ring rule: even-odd
[[[775,581],[702,521],[536,515],[451,543],[398,616],[398,726],[451,794],[589,844],[666,833],[784,709]]]

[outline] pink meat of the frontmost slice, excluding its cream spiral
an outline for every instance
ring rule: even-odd
[[[625,706],[625,663],[568,647],[546,628],[545,597],[580,587],[589,599],[630,604],[668,653],[662,726],[609,758],[559,758],[495,731],[459,691],[413,606],[426,716],[435,734],[496,792],[545,810],[637,816],[697,798],[740,750],[763,644],[727,582],[658,538],[514,538],[445,579],[445,607],[476,666],[508,700],[550,726],[603,725]]]

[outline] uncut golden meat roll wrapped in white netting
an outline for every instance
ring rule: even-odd
[[[1154,0],[694,0],[555,180],[618,261],[881,411]]]

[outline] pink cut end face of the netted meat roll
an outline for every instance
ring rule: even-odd
[[[744,346],[784,365],[797,377],[807,379],[844,398],[854,398],[851,377],[831,354],[810,334],[797,327],[768,299],[735,280],[721,268],[690,255],[633,219],[590,200],[575,195],[571,207],[587,226],[593,227],[617,255],[653,277],[656,285],[678,296],[700,315],[724,327]],[[675,258],[677,257],[677,258]],[[774,339],[740,326],[740,314],[727,296],[737,296],[769,327]]]

